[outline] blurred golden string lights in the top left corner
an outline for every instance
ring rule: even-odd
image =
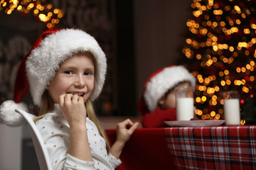
[[[54,8],[46,0],[0,0],[0,11],[10,15],[14,10],[20,11],[23,15],[33,13],[36,20],[46,23],[48,29],[53,29],[63,18],[64,11]]]

